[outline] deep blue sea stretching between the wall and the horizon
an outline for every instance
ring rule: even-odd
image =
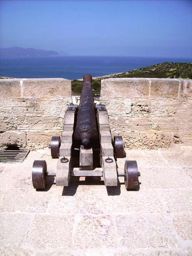
[[[163,62],[190,62],[192,58],[50,56],[0,58],[0,76],[13,78],[81,79],[84,74],[103,76]]]

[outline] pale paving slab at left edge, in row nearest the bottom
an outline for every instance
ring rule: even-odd
[[[26,237],[34,215],[25,213],[0,213],[1,247],[20,247]]]

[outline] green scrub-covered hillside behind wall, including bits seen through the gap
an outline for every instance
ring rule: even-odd
[[[101,80],[106,78],[184,78],[192,79],[191,63],[169,63],[164,62],[153,66],[142,67],[136,70],[123,72],[116,75],[109,75],[103,78],[95,78],[92,82],[93,93],[100,94]],[[73,95],[80,95],[83,81],[72,80]]]

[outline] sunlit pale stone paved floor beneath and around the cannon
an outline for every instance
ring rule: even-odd
[[[0,255],[192,255],[192,147],[126,149],[118,170],[136,160],[139,191],[126,191],[123,177],[109,189],[98,177],[73,177],[68,188],[50,177],[36,191],[33,161],[56,171],[49,151],[0,163]]]

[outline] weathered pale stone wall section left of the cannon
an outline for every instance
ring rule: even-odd
[[[0,79],[0,148],[43,148],[63,129],[71,80]]]

